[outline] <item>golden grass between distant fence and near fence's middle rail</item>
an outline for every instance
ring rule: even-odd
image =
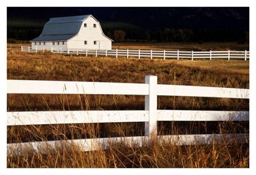
[[[241,68],[231,68],[232,66]],[[249,88],[248,70],[249,62],[242,60],[193,62],[191,60],[85,58],[49,52],[28,54],[21,51],[11,51],[7,54],[7,79],[145,83],[146,75],[157,75],[158,84]],[[143,109],[144,107],[142,96],[87,95],[86,98],[89,100],[90,109]],[[159,97],[159,99],[161,99],[159,108],[172,108],[170,105],[173,104],[172,97]],[[235,101],[241,102],[234,103]],[[46,103],[52,110],[70,107],[86,108],[77,100],[77,95],[8,95],[7,103],[10,110],[22,110],[22,108],[23,110],[42,110],[47,109]],[[235,109],[239,106],[241,109],[247,109],[243,107],[246,100],[238,99],[176,97],[175,104],[176,109]]]

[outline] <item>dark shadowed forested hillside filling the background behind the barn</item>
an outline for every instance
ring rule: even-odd
[[[115,42],[249,42],[248,7],[8,7],[7,38],[30,40],[49,18],[84,14]]]

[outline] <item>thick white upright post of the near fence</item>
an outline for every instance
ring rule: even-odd
[[[149,121],[145,122],[145,136],[157,136],[157,76],[147,75],[149,95],[145,96],[145,110],[149,111]]]

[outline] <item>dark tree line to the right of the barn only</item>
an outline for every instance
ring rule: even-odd
[[[118,30],[120,31],[120,30]],[[107,36],[115,42],[237,42],[249,43],[249,32],[243,30],[217,30],[217,29],[164,29],[157,31],[126,30],[125,38],[117,39],[116,30],[108,30]]]

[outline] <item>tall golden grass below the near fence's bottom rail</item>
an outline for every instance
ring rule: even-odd
[[[247,144],[176,146],[151,141],[142,146],[110,145],[107,150],[82,152],[77,146],[46,154],[8,157],[9,168],[249,168]]]

